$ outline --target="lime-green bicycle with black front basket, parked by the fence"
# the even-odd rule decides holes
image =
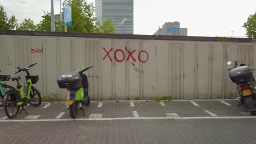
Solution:
[[[20,76],[11,78],[12,81],[16,81],[18,83],[18,90],[15,88],[10,89],[7,94],[4,95],[3,106],[5,114],[8,118],[15,118],[19,113],[20,107],[22,108],[20,113],[22,111],[25,111],[25,113],[27,114],[27,111],[24,109],[27,104],[30,104],[32,106],[39,106],[41,104],[41,94],[37,88],[33,87],[33,84],[37,83],[39,80],[38,75],[31,76],[30,72],[28,71],[36,64],[37,63],[31,64],[28,66],[28,68],[17,68],[18,71],[15,74],[18,74],[21,71],[25,71],[27,74],[27,81],[25,82],[24,87],[22,87],[19,83],[19,80],[21,79]]]

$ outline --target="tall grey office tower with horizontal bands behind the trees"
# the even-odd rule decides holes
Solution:
[[[96,0],[95,13],[101,23],[113,19],[115,33],[133,34],[134,0]]]

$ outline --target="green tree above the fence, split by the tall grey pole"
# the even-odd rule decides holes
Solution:
[[[40,21],[37,24],[37,31],[51,31],[51,13],[48,13],[48,11],[44,11],[44,15],[42,16],[43,20]],[[62,29],[62,22],[61,21],[55,21],[55,31],[61,32]]]

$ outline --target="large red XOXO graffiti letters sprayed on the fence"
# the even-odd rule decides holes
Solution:
[[[109,51],[107,51],[107,50],[105,49],[105,47],[103,47],[103,50],[107,53],[106,56],[103,58],[103,61],[104,61],[105,58],[108,56],[109,60],[112,62],[113,60],[112,60],[112,58],[110,57],[109,53],[113,50],[113,48],[111,48]],[[135,59],[135,58],[133,57],[133,55],[132,55],[136,50],[133,50],[133,51],[130,52],[130,51],[127,49],[127,47],[125,47],[125,50],[128,52],[128,56],[127,56],[127,58],[126,58],[126,61],[129,61],[129,59],[130,59],[130,57],[131,57],[131,58],[132,58],[132,61],[133,61],[133,62],[136,62],[136,59]],[[117,58],[117,53],[118,53],[118,52],[121,52],[121,54],[123,55],[123,58],[121,58],[121,59],[118,59],[118,58]],[[146,58],[146,60],[144,60],[144,61],[141,59],[142,53],[145,53],[145,54],[147,55],[147,58]],[[147,51],[142,50],[142,51],[140,51],[140,52],[138,53],[138,61],[139,61],[139,62],[146,63],[146,62],[148,61],[148,58],[149,58],[149,55],[148,55],[148,52],[147,52]],[[123,61],[125,60],[125,52],[124,52],[123,50],[121,50],[121,49],[115,50],[115,51],[114,51],[114,59],[115,59],[115,61],[117,61],[117,62],[119,62],[119,63],[123,62]]]

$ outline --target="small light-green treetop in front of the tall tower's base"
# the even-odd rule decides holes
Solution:
[[[96,23],[98,28],[96,29],[95,33],[115,33],[115,27],[113,25],[113,19],[108,19],[104,21],[101,25],[100,21]]]

